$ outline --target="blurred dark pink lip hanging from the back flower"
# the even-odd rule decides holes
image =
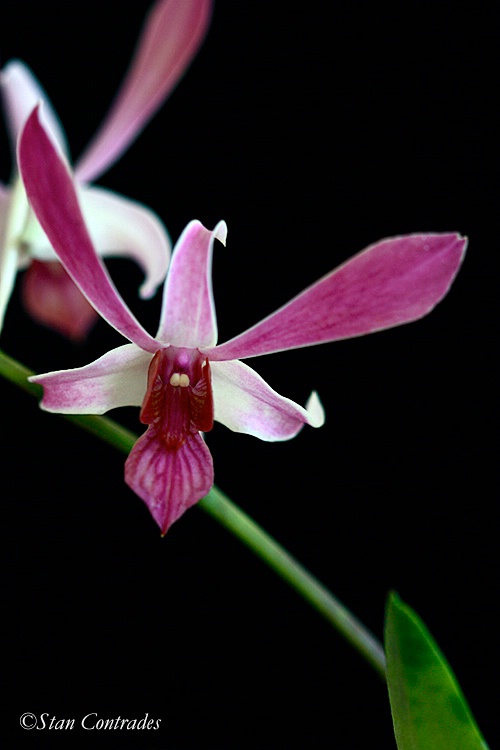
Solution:
[[[58,261],[32,262],[24,274],[22,298],[37,323],[73,341],[83,341],[98,318]]]

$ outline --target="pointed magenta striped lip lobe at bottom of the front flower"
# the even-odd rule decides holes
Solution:
[[[168,449],[149,427],[125,463],[125,481],[148,506],[162,534],[205,497],[214,481],[212,456],[193,433],[177,450]]]

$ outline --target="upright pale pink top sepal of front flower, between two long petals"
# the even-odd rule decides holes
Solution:
[[[156,338],[187,348],[213,346],[217,323],[212,293],[214,240],[226,244],[227,226],[213,231],[191,221],[178,239],[163,290],[163,306]]]

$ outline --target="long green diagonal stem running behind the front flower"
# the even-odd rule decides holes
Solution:
[[[16,360],[0,351],[0,375],[15,383],[33,396],[40,397],[42,388],[29,383],[33,373]],[[61,415],[101,440],[129,453],[137,435],[113,420],[100,416]],[[198,505],[220,524],[237,536],[258,557],[266,562],[309,604],[311,604],[385,679],[385,656],[381,643],[375,636],[318,581],[298,560],[273,539],[264,529],[246,515],[237,505],[213,487]]]

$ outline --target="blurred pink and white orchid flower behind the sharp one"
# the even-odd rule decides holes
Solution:
[[[206,33],[212,0],[160,0],[150,11],[120,91],[100,130],[75,165],[85,221],[100,255],[128,256],[142,268],[140,294],[151,297],[165,278],[170,239],[145,206],[89,186],[120,158],[170,94]],[[50,102],[29,68],[13,60],[0,72],[13,147],[30,112],[43,101],[46,126],[67,154],[66,139]],[[16,273],[24,275],[23,300],[39,322],[69,338],[86,336],[97,313],[67,276],[51,243],[29,210],[17,173],[0,184],[0,329]]]

